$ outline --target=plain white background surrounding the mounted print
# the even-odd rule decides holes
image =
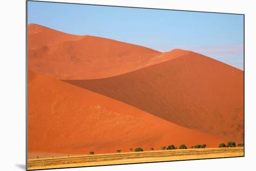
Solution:
[[[65,171],[254,170],[256,161],[256,5],[253,5],[253,0],[59,1],[245,14],[246,147],[244,158],[126,164],[73,168]],[[25,14],[25,0],[0,2],[0,170],[5,171],[25,170]]]

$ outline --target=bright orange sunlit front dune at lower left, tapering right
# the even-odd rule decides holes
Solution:
[[[95,92],[28,72],[29,155],[112,153],[170,144],[216,147],[222,142]]]

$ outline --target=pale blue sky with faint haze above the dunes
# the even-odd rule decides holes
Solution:
[[[191,50],[243,70],[243,15],[28,2],[28,24],[161,52]]]

